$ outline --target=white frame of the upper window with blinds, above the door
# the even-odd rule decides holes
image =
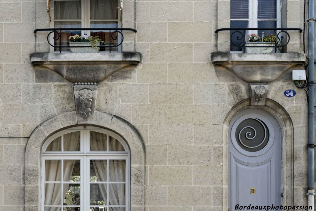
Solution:
[[[281,27],[281,0],[276,0],[276,19],[258,19],[258,0],[249,0],[248,19],[230,19],[231,21],[248,21],[249,28],[258,28],[259,21],[276,21],[276,27]],[[249,30],[249,34],[258,34],[257,30]],[[245,35],[246,36],[246,35]],[[261,37],[261,34],[258,34]]]

